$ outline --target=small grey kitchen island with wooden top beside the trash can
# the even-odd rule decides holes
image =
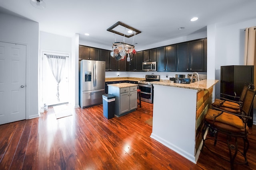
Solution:
[[[116,96],[116,117],[130,113],[137,108],[137,84],[108,84],[108,94]]]

